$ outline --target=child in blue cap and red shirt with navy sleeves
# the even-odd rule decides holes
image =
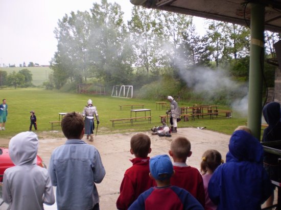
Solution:
[[[157,187],[140,194],[129,210],[155,209],[197,209],[203,206],[186,190],[171,186],[170,178],[175,173],[171,159],[167,154],[156,155],[149,162],[149,176],[155,179]]]

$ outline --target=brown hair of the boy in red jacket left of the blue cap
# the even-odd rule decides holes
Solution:
[[[150,149],[150,138],[145,134],[136,134],[131,138],[131,149],[138,158],[147,158]]]

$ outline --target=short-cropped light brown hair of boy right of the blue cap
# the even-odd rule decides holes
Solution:
[[[191,143],[185,137],[178,137],[171,142],[171,151],[176,158],[185,159],[191,150]]]

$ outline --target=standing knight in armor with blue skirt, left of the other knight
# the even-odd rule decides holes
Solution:
[[[99,115],[97,108],[92,106],[92,100],[89,99],[87,101],[87,106],[84,107],[83,117],[85,117],[85,134],[87,135],[87,139],[89,141],[93,141],[93,130],[95,129],[94,115],[97,119],[97,124],[100,124]]]

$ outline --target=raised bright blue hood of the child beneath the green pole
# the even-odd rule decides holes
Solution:
[[[229,152],[226,155],[226,162],[249,161],[262,163],[264,149],[262,144],[245,130],[237,130],[229,140]]]

